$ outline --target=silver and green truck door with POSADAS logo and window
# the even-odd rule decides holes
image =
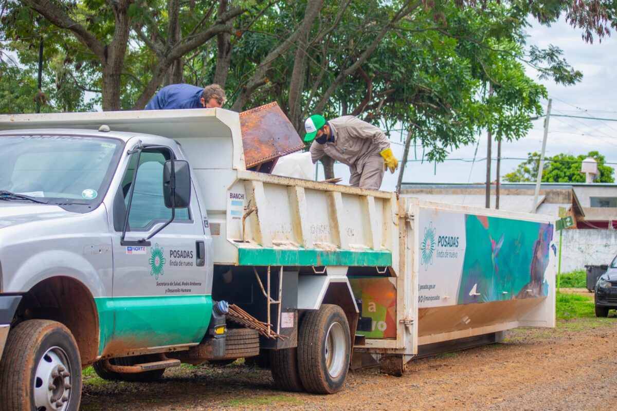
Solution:
[[[146,146],[147,147],[147,146]],[[160,145],[158,146],[160,147]],[[172,216],[163,198],[163,168],[171,149],[144,149],[136,165],[130,161],[114,200],[113,333],[101,341],[106,352],[197,343],[210,320],[212,297],[207,284],[210,261],[198,255],[205,237],[196,192],[189,208],[176,209],[175,219],[146,242]],[[124,216],[137,169],[125,241]],[[205,242],[205,244],[204,244]],[[102,340],[106,339],[101,333]]]

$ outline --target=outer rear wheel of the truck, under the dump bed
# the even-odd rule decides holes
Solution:
[[[304,389],[315,394],[339,391],[349,369],[351,338],[342,308],[322,304],[304,315],[298,336],[298,369]]]

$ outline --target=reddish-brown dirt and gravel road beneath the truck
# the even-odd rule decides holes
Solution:
[[[403,377],[350,372],[331,396],[285,393],[244,364],[180,367],[157,383],[85,379],[82,410],[615,410],[617,318],[518,328],[502,343],[412,362]]]

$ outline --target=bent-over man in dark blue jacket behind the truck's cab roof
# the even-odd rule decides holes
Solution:
[[[174,108],[215,108],[225,102],[225,91],[218,84],[204,88],[191,84],[170,84],[152,97],[146,110],[172,110]]]

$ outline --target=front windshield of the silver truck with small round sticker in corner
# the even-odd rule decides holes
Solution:
[[[100,137],[0,137],[0,190],[49,203],[99,203],[121,147]]]

